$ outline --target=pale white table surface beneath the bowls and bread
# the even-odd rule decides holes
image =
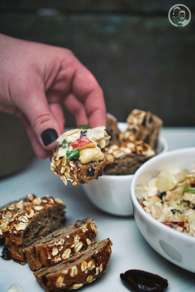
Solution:
[[[163,128],[161,135],[168,141],[169,150],[195,146],[195,127]],[[63,182],[50,170],[49,159],[36,157],[29,166],[10,177],[0,180],[0,205],[29,193],[38,196],[50,194],[65,202],[67,223],[92,217],[99,231],[97,239],[109,237],[113,241],[111,261],[106,273],[79,291],[125,292],[120,273],[140,269],[168,279],[167,292],[194,292],[195,274],[183,270],[160,256],[142,237],[133,217],[108,215],[95,208],[85,196],[82,186]],[[0,241],[0,253],[3,241]],[[195,252],[195,246],[194,246]],[[195,263],[194,263],[195,265]],[[28,265],[0,258],[0,291],[19,284],[24,292],[43,292]]]

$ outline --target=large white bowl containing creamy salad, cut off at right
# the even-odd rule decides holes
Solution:
[[[195,238],[167,227],[147,214],[137,196],[140,188],[163,169],[191,170],[195,167],[195,147],[183,148],[160,154],[146,161],[134,174],[131,198],[134,218],[146,241],[161,256],[191,272],[195,272]],[[139,193],[137,191],[139,189]],[[140,198],[139,198],[140,199]]]

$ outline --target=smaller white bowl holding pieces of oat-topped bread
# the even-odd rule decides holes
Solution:
[[[118,123],[121,131],[125,131],[126,123]],[[159,138],[157,153],[168,150],[163,137]],[[130,197],[130,186],[134,175],[104,175],[82,185],[88,199],[101,211],[117,216],[133,215]]]

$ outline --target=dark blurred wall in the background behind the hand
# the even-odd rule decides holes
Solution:
[[[195,2],[181,2],[191,21],[177,29],[168,20],[175,1],[1,0],[0,31],[72,50],[118,121],[138,108],[164,126],[195,126]],[[66,110],[65,116],[74,126]]]

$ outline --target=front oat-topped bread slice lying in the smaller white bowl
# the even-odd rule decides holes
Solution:
[[[126,140],[119,145],[106,147],[106,166],[103,170],[107,175],[134,174],[146,160],[155,155],[154,150],[143,141]]]

